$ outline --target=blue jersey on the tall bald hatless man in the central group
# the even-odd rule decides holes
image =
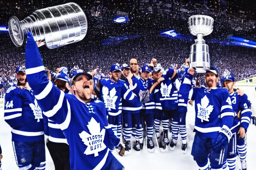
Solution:
[[[134,98],[132,100],[129,100],[128,98],[122,99],[123,113],[140,113],[140,110],[142,109],[142,103],[140,102],[139,92],[140,90],[144,90],[144,88],[142,87],[142,82],[135,76],[132,76],[133,87],[130,87],[127,78],[124,78],[124,81],[126,86],[129,87],[130,90],[132,90]]]

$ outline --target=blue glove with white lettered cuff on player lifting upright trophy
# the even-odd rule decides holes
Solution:
[[[216,139],[215,144],[213,145],[213,148],[215,150],[224,149],[228,145],[231,137],[232,137],[231,130],[226,125],[223,125],[223,127],[219,131],[219,135]]]

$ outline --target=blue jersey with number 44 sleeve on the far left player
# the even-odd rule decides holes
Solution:
[[[6,91],[4,119],[12,128],[12,141],[44,140],[42,110],[32,90],[10,87]]]

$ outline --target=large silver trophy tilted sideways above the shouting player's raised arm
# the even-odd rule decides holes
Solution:
[[[83,40],[87,28],[87,18],[76,3],[36,10],[22,21],[15,16],[9,19],[9,34],[16,46],[21,46],[31,31],[35,41],[57,48]]]

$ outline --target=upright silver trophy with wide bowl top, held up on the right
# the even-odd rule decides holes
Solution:
[[[203,37],[212,33],[213,21],[206,15],[193,15],[188,19],[190,33],[197,36],[195,44],[190,47],[190,67],[196,68],[198,73],[205,73],[211,66],[209,47]]]

